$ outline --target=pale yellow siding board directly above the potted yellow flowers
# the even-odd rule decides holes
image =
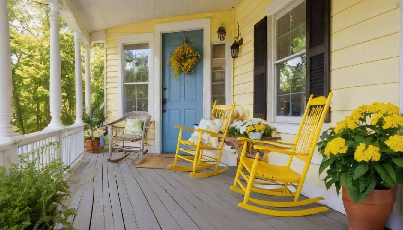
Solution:
[[[398,92],[399,83],[333,90],[332,110],[353,110],[362,104],[371,104],[372,102],[399,104]]]

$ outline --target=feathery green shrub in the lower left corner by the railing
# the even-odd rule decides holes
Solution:
[[[75,229],[67,221],[75,209],[64,205],[70,194],[63,174],[72,173],[70,166],[60,159],[40,165],[39,157],[30,161],[21,155],[8,170],[0,167],[0,229],[53,229],[58,224]]]

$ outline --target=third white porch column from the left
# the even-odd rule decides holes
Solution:
[[[83,77],[81,75],[81,39],[80,32],[74,32],[75,75],[76,75],[76,121],[83,124]]]

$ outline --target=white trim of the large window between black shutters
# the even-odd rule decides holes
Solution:
[[[289,133],[289,134],[297,134],[299,124],[301,122],[302,116],[289,116],[282,117],[276,116],[276,75],[274,64],[278,63],[282,60],[276,60],[276,47],[275,47],[275,34],[276,34],[276,19],[287,13],[289,10],[295,8],[299,4],[301,4],[304,0],[274,0],[266,7],[266,13],[268,16],[267,23],[267,47],[268,47],[268,94],[267,94],[267,120],[271,126],[276,128],[276,132],[279,133]],[[306,52],[306,50],[301,51]],[[298,52],[297,54],[301,54]],[[297,54],[293,54],[291,56],[297,56]],[[284,58],[283,60],[290,59],[291,56]]]

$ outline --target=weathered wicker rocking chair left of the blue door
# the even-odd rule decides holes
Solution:
[[[151,125],[151,115],[148,114],[147,112],[143,111],[133,111],[127,113],[125,116],[122,118],[119,118],[118,120],[115,120],[114,122],[107,124],[108,126],[108,134],[109,134],[109,157],[108,157],[108,162],[119,162],[126,157],[130,155],[130,153],[136,153],[137,159],[135,162],[139,162],[141,159],[143,159],[143,155],[146,153],[144,151],[144,139],[147,137],[147,131],[148,128],[150,128]],[[117,124],[126,120],[126,118],[129,119],[142,119],[143,124],[141,125],[141,136],[136,136],[136,135],[123,135],[125,131],[124,126],[118,126]],[[139,142],[139,146],[125,146],[125,142]],[[115,143],[114,143],[115,142]],[[112,159],[112,153],[113,152],[123,152],[124,155],[123,157],[117,158],[117,159]],[[134,163],[134,162],[133,162]]]

